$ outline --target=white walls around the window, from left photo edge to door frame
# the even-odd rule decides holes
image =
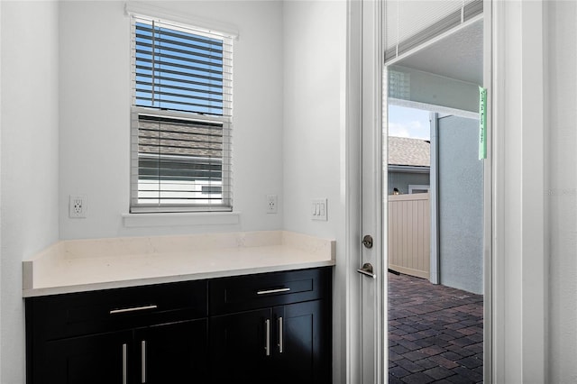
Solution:
[[[148,5],[240,33],[234,53],[240,223],[124,227],[131,86],[124,2],[1,2],[3,384],[24,378],[22,261],[59,239],[287,229],[344,243],[346,2]],[[265,213],[267,194],[279,196],[278,215]],[[69,195],[87,196],[86,219],[69,219]],[[328,198],[328,222],[310,220],[316,197]],[[344,368],[342,246],[337,259],[334,382]]]

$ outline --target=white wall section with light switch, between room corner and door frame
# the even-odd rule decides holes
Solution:
[[[347,5],[284,5],[284,228],[336,239],[334,383],[344,379],[344,96]],[[311,200],[327,198],[328,221],[311,220]]]

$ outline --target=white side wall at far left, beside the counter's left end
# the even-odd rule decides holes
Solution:
[[[0,382],[22,384],[22,261],[59,239],[58,5],[1,2],[0,7]]]

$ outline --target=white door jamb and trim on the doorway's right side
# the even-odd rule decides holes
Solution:
[[[485,338],[493,382],[545,382],[548,373],[546,3],[484,0],[491,10],[493,144],[492,328]]]

